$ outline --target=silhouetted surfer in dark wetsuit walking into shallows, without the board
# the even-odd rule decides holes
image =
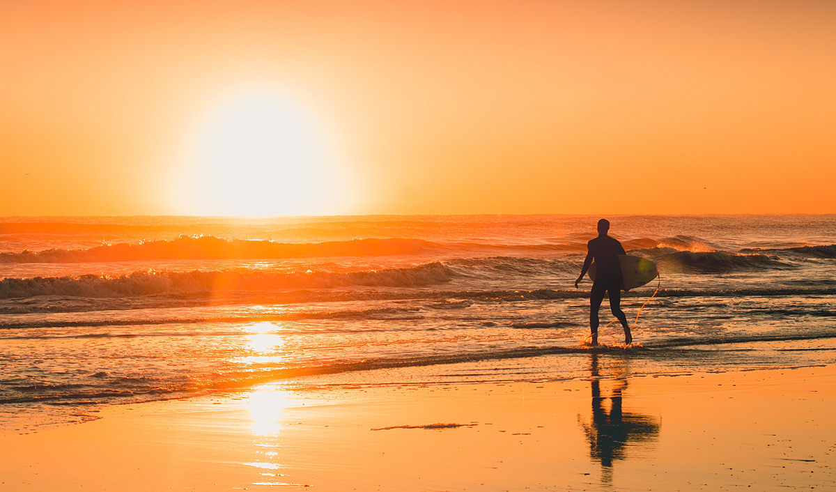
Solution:
[[[592,345],[598,345],[598,310],[601,307],[601,301],[604,300],[604,293],[609,293],[609,309],[624,326],[624,344],[630,345],[633,342],[633,336],[630,334],[627,316],[621,310],[621,266],[618,256],[626,253],[618,239],[610,238],[607,231],[609,231],[609,220],[602,218],[598,221],[598,237],[587,243],[589,253],[584,259],[584,268],[581,269],[580,276],[575,280],[575,289],[584,279],[584,274],[589,270],[589,265],[594,259],[595,279],[589,296],[589,327],[592,329]]]

